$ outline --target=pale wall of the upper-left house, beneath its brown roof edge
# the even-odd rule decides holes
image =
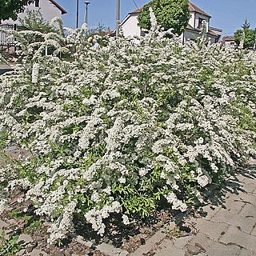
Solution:
[[[41,8],[42,17],[48,22],[54,17],[62,18],[62,11],[49,0],[39,0],[39,7]],[[34,3],[26,6],[24,13],[18,14],[18,18],[24,18],[26,16],[26,10],[38,10],[38,7],[35,7]],[[18,24],[18,20],[9,19],[3,21],[2,24]]]

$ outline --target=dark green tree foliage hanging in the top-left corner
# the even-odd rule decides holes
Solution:
[[[0,0],[0,22],[12,18],[16,20],[18,14],[25,10],[25,6],[34,2],[34,0]]]

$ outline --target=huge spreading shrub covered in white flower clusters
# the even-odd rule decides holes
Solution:
[[[104,234],[110,214],[129,224],[163,201],[185,211],[255,154],[254,52],[156,28],[101,48],[69,32],[20,32],[23,64],[0,77],[0,130],[30,151],[1,167],[2,189],[26,191],[52,222],[49,242],[74,216]]]

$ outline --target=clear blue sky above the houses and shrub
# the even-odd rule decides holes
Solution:
[[[63,15],[65,26],[73,27],[76,24],[76,0],[56,0],[63,6],[68,14]],[[85,4],[80,2],[80,25],[84,19]],[[130,11],[137,9],[134,5],[143,6],[149,0],[121,0],[121,18],[125,18]],[[222,35],[234,34],[240,28],[245,18],[252,28],[256,26],[256,0],[191,0],[206,13],[212,16],[210,26],[223,30]],[[95,27],[98,22],[114,29],[116,15],[116,0],[90,0],[88,11],[88,23]]]

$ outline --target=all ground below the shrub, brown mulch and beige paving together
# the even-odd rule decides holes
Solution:
[[[19,154],[13,150],[13,154]],[[16,194],[10,204],[18,210],[30,202],[18,203],[24,194]],[[158,216],[152,226],[131,226],[122,230],[122,238],[111,230],[108,239],[85,241],[85,236],[74,237],[68,246],[58,248],[46,243],[47,222],[27,219],[15,211],[6,209],[0,220],[0,231],[6,230],[8,237],[22,227],[18,243],[22,250],[17,255],[26,256],[249,256],[256,255],[256,161],[242,167],[237,175],[226,179],[222,186],[210,186],[206,190],[205,206],[190,213],[177,214],[170,219],[168,213]],[[160,220],[160,222],[159,222]],[[39,227],[39,228],[38,228]],[[133,232],[134,231],[134,232]],[[136,231],[136,232],[135,232]],[[120,234],[121,234],[120,233]],[[118,242],[117,242],[118,241]]]

